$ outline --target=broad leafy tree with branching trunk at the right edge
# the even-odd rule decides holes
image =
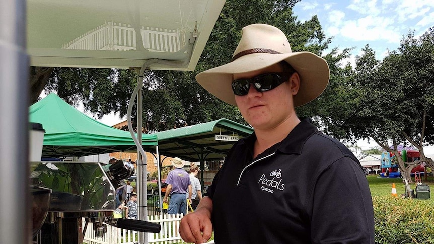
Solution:
[[[430,29],[419,39],[410,32],[397,51],[382,62],[367,45],[356,57],[353,75],[346,87],[328,104],[326,111],[340,109],[322,117],[328,131],[339,139],[374,139],[384,150],[398,155],[399,144],[413,144],[421,160],[404,164],[397,157],[402,175],[411,182],[411,169],[420,161],[431,167],[432,160],[423,153],[423,145],[432,144],[434,41]],[[339,101],[349,99],[341,107]]]

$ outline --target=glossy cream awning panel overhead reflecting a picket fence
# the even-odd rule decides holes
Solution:
[[[224,3],[28,0],[30,65],[194,70]]]

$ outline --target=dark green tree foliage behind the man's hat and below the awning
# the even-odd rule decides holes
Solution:
[[[321,55],[328,48],[331,38],[325,36],[316,16],[305,22],[297,21],[292,8],[299,1],[226,1],[194,71],[152,70],[146,74],[142,92],[145,131],[162,131],[220,118],[246,124],[236,107],[216,99],[194,77],[201,71],[228,63],[241,37],[241,29],[253,23],[266,23],[280,28],[287,34],[293,51],[311,51]],[[335,62],[338,59],[330,56],[328,61]],[[335,63],[330,65],[337,66]],[[85,110],[99,118],[112,111],[119,112],[120,117],[126,114],[130,95],[136,85],[134,70],[50,69],[51,73],[50,70],[46,71],[50,74],[47,84],[39,88],[57,92],[75,106],[81,101]],[[33,78],[31,82],[37,82],[37,79]],[[34,90],[33,94],[39,95],[41,91]],[[312,113],[309,111],[306,114]],[[135,124],[135,117],[132,121]]]

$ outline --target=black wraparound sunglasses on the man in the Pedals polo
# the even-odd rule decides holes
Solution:
[[[250,79],[236,79],[232,82],[232,90],[235,95],[247,95],[251,83],[258,92],[269,91],[288,80],[292,74],[293,73],[266,73]]]

